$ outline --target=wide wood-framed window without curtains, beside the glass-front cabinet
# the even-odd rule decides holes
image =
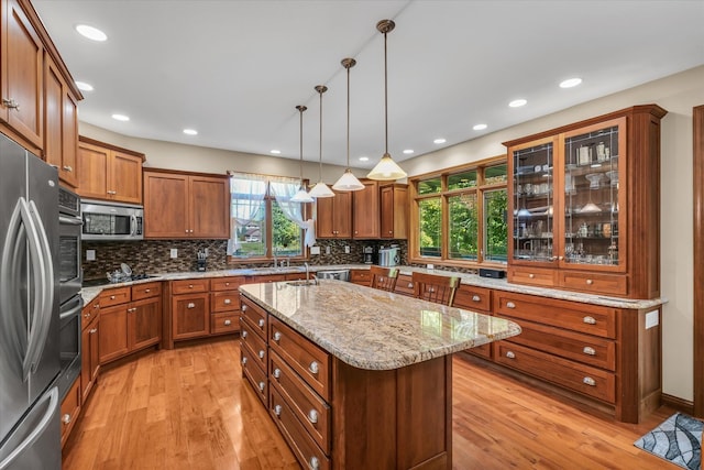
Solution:
[[[506,263],[506,157],[414,178],[411,261]]]

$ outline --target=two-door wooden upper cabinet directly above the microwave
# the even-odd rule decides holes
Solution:
[[[78,187],[88,199],[142,204],[144,154],[80,136]]]

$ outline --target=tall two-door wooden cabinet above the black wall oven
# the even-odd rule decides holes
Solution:
[[[78,185],[78,100],[48,53],[44,54],[44,160],[66,185]]]

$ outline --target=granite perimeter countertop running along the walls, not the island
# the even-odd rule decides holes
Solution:
[[[369,264],[333,264],[333,265],[316,265],[310,266],[310,272],[316,273],[318,271],[330,270],[369,270]],[[547,287],[532,287],[520,284],[510,284],[505,278],[497,280],[491,277],[481,277],[476,274],[455,273],[451,271],[442,270],[427,270],[416,266],[398,266],[400,274],[410,275],[414,271],[432,273],[439,275],[458,276],[462,284],[474,285],[479,287],[494,288],[506,292],[514,292],[518,294],[531,294],[541,297],[558,298],[563,300],[581,302],[591,305],[602,305],[613,308],[653,308],[668,302],[667,298],[651,298],[651,299],[630,299],[620,297],[608,297],[594,294],[582,294],[579,292],[560,291],[557,288]],[[293,274],[306,272],[305,266],[290,266],[290,267],[256,267],[256,269],[240,269],[240,270],[220,270],[220,271],[206,271],[206,272],[184,272],[184,273],[164,273],[154,277],[140,281],[131,281],[127,283],[106,284],[98,287],[86,287],[81,289],[84,302],[88,304],[95,297],[97,297],[103,288],[121,287],[125,285],[140,284],[153,281],[177,281],[187,278],[202,278],[202,277],[227,277],[227,276],[254,276],[254,275],[267,275],[267,274]]]

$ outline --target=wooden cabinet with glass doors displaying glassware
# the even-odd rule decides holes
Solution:
[[[660,295],[660,119],[634,107],[507,142],[508,280]]]

